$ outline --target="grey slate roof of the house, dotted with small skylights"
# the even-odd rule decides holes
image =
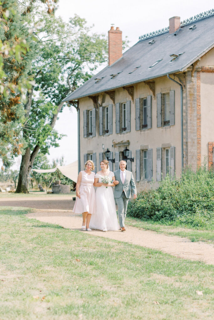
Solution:
[[[190,30],[193,25],[196,28]],[[149,44],[152,39],[154,43]],[[119,60],[90,78],[63,101],[76,100],[184,71],[212,47],[214,47],[214,14],[181,27],[176,36],[174,33],[165,32],[139,41],[124,52]],[[171,61],[173,59],[171,54],[181,55]],[[160,61],[150,68],[158,60]],[[96,83],[96,78],[101,80]]]

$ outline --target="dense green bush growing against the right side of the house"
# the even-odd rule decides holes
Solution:
[[[158,189],[138,194],[128,204],[127,215],[194,228],[211,227],[214,218],[214,174],[201,167],[187,168],[181,177],[163,179]]]

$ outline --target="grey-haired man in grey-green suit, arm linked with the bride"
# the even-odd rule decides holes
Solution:
[[[134,194],[134,199],[137,198],[137,189],[134,182],[134,177],[131,171],[127,171],[126,161],[119,162],[120,170],[114,171],[115,174],[115,201],[118,207],[118,218],[121,231],[125,231],[124,220],[126,217],[127,205],[131,198],[131,190]]]

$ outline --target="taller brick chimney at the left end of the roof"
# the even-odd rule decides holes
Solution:
[[[111,66],[122,55],[122,31],[112,26],[108,31],[108,65]]]

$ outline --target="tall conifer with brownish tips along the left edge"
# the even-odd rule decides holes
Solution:
[[[25,121],[22,101],[30,93],[33,78],[28,74],[35,58],[36,43],[26,16],[33,4],[53,14],[58,0],[2,0],[0,3],[0,158],[8,167],[23,152]]]

